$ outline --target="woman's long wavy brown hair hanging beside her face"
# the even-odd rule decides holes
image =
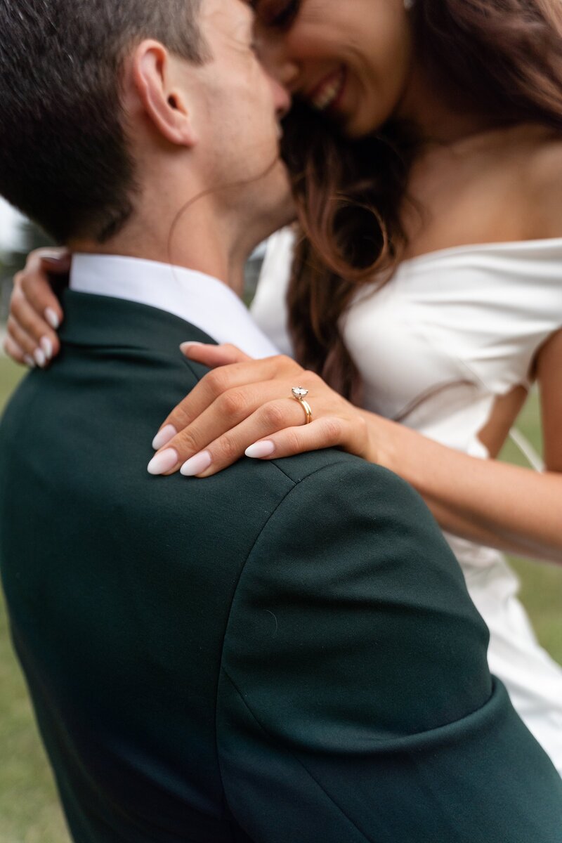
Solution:
[[[562,132],[562,0],[416,0],[417,59],[436,89],[497,126],[533,122]],[[404,253],[401,221],[420,139],[389,123],[346,141],[295,105],[284,155],[299,232],[289,288],[297,359],[361,403],[361,378],[341,333],[361,285],[384,283]]]

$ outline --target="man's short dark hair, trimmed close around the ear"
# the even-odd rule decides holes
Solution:
[[[0,0],[0,194],[61,243],[130,217],[121,71],[145,38],[206,60],[201,0]]]

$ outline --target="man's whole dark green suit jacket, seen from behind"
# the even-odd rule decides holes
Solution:
[[[147,475],[209,341],[67,293],[0,433],[13,642],[78,843],[560,843],[424,504],[338,451]]]

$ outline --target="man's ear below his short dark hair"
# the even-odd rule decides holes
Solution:
[[[192,115],[183,90],[174,78],[174,59],[158,41],[142,41],[135,51],[132,77],[147,117],[170,143],[193,147]]]

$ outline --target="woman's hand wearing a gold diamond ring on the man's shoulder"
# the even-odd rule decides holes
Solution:
[[[244,454],[280,459],[333,447],[371,459],[362,412],[290,357],[253,360],[234,346],[196,343],[182,351],[211,372],[163,421],[150,474],[210,477]],[[295,387],[308,390],[310,423]]]

